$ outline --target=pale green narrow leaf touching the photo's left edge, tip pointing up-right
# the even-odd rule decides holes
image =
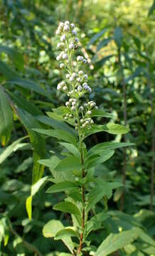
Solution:
[[[20,139],[17,139],[15,142],[13,142],[11,145],[7,146],[4,151],[0,154],[0,164],[6,160],[8,156],[10,156],[13,152],[15,152],[18,149],[22,149],[24,146],[27,145],[27,143],[20,143],[23,139],[28,138],[22,137]]]

